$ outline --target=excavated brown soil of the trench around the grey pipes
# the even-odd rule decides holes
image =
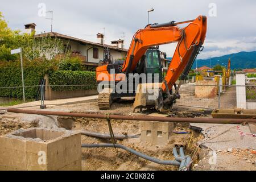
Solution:
[[[106,119],[91,118],[63,118],[59,117],[61,127],[71,130],[87,130],[98,133],[109,133]],[[72,122],[72,124],[71,124]],[[141,134],[138,121],[112,120],[115,134]],[[155,146],[148,142],[141,142],[140,138],[117,140],[117,143],[133,148],[143,154],[162,160],[174,160],[172,148],[175,144],[185,146],[185,154],[191,155],[197,147],[197,141],[202,135],[189,130],[189,123],[175,123],[174,130],[188,131],[188,134],[172,133],[168,143],[164,146]],[[192,137],[193,135],[193,137]],[[112,143],[111,139],[100,139],[82,135],[82,143]],[[193,161],[197,163],[199,155]],[[82,148],[82,170],[177,170],[177,166],[160,165],[149,162],[119,148]]]

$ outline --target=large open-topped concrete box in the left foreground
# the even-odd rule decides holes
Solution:
[[[81,135],[30,128],[0,136],[0,170],[81,170]]]

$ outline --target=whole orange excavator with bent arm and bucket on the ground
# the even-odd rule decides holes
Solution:
[[[188,25],[184,28],[178,27],[179,24],[184,23],[188,23]],[[127,52],[126,60],[123,65],[110,64],[108,59],[104,59],[105,61],[102,62],[103,64],[96,69],[97,82],[114,81],[115,84],[118,84],[120,81],[125,81],[128,83],[126,85],[129,86],[130,80],[128,74],[142,71],[145,67],[143,63],[148,48],[176,42],[177,47],[163,83],[157,82],[158,84],[155,84],[146,82],[147,87],[150,87],[150,85],[158,85],[152,86],[158,93],[158,98],[149,99],[147,92],[141,92],[143,90],[142,87],[145,85],[144,83],[141,83],[138,86],[133,83],[134,85],[132,85],[132,88],[133,86],[137,86],[136,92],[131,90],[131,93],[122,94],[113,92],[113,89],[108,86],[105,88],[104,86],[104,90],[102,90],[98,95],[99,108],[109,109],[113,98],[129,97],[134,96],[135,94],[134,110],[136,108],[152,106],[159,111],[170,109],[172,104],[175,103],[176,98],[180,97],[178,93],[180,84],[176,86],[175,81],[180,75],[181,78],[187,76],[192,67],[193,61],[201,50],[201,45],[204,43],[206,31],[207,17],[201,15],[194,20],[188,20],[185,22],[172,21],[163,24],[149,24],[144,29],[138,30],[133,36],[133,40],[131,41],[129,51]],[[141,65],[137,67],[140,60]],[[113,69],[118,71],[118,73],[111,73],[110,71]],[[101,73],[104,73],[102,74],[104,77],[101,76]],[[175,88],[175,92],[172,91],[173,86]]]

